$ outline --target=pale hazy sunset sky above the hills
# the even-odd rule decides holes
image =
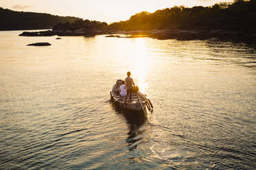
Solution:
[[[141,11],[154,12],[173,5],[208,6],[224,1],[232,0],[0,0],[0,7],[111,23],[125,21]]]

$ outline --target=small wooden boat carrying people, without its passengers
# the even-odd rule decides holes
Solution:
[[[116,84],[114,84],[110,92],[111,101],[118,104],[118,106],[121,106],[125,110],[143,110],[145,112],[146,107],[149,111],[153,110],[153,105],[151,104],[151,101],[147,98],[147,95],[143,95],[142,93],[140,93],[140,91],[138,91],[137,93],[133,93],[131,101],[129,97],[127,97],[126,99],[126,96],[120,96],[120,85],[122,85],[122,80],[117,80]]]

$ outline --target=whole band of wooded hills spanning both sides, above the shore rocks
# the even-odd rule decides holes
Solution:
[[[97,34],[117,31],[150,31],[153,29],[204,29],[256,32],[256,0],[235,0],[209,7],[174,6],[156,12],[140,12],[127,21],[107,25],[105,22],[76,17],[54,16],[35,12],[15,12],[0,8],[0,30],[53,29],[56,32]],[[79,34],[78,34],[79,35]]]

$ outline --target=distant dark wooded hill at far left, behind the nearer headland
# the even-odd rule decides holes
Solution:
[[[0,8],[0,30],[52,29],[56,23],[74,23],[80,18]]]

